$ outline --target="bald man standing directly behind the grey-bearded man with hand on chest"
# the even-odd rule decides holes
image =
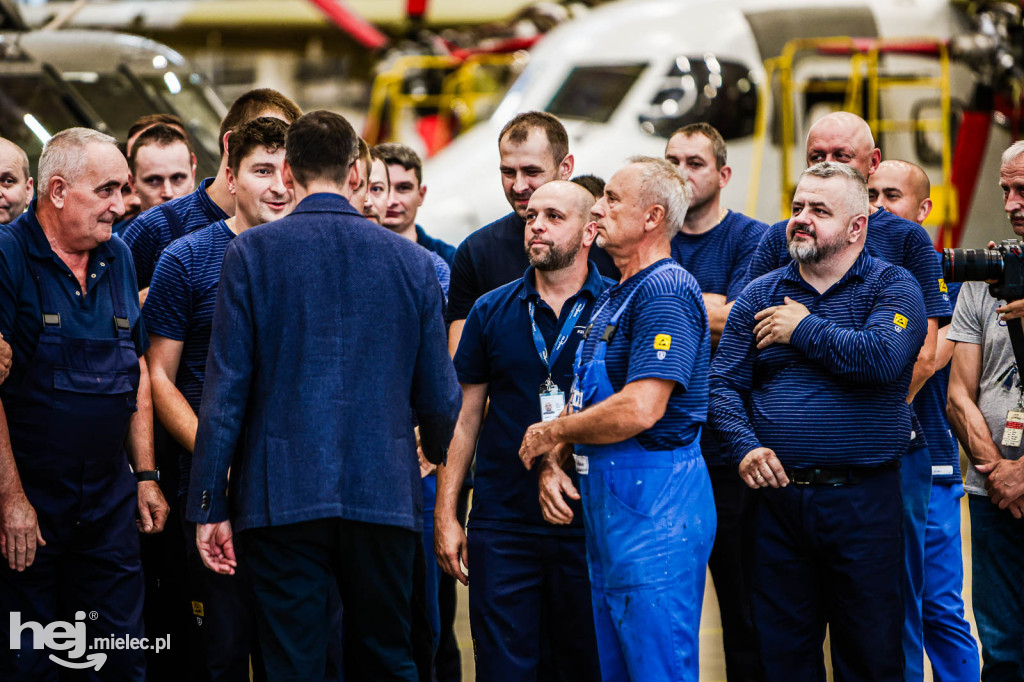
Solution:
[[[867,123],[855,114],[835,112],[821,117],[807,133],[807,165],[825,161],[852,166],[869,179],[879,170],[882,152]],[[790,263],[785,244],[786,221],[768,228],[758,245],[746,272],[748,282]],[[936,340],[939,319],[952,314],[942,268],[935,258],[932,240],[925,229],[910,220],[877,209],[867,217],[865,250],[874,258],[899,265],[914,276],[921,286],[928,315],[928,334],[913,368],[907,402],[913,400],[925,382],[935,373]],[[901,481],[906,540],[907,589],[903,650],[906,680],[924,679],[922,594],[925,573],[925,525],[932,489],[932,460],[928,452],[927,431],[911,414],[910,447],[901,458]]]

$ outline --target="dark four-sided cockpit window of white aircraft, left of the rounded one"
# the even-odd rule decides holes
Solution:
[[[607,123],[645,68],[643,63],[577,67],[551,98],[548,112],[559,118]]]

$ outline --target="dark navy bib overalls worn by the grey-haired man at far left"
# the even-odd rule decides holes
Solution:
[[[4,410],[22,485],[47,544],[22,573],[4,561],[0,610],[20,611],[23,623],[44,626],[74,622],[76,611],[85,611],[89,644],[93,637],[138,638],[143,586],[137,489],[124,440],[135,411],[139,364],[124,292],[111,279],[111,336],[73,338],[61,327],[52,292],[41,284],[43,267],[31,255],[28,264],[43,327]],[[92,295],[99,295],[100,286],[94,283]],[[2,636],[8,641],[9,633]],[[105,664],[86,671],[86,679],[144,679],[142,650],[103,652]],[[23,631],[20,650],[0,658],[0,679],[55,680],[63,669],[47,658],[51,653],[71,659],[67,651],[34,649],[31,631]]]

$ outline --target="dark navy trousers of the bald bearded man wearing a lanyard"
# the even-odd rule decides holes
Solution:
[[[583,538],[469,531],[476,679],[598,680]]]

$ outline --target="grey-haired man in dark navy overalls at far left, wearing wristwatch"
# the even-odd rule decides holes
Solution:
[[[0,332],[15,358],[0,388],[0,638],[15,643],[0,679],[55,680],[59,658],[90,679],[141,680],[136,524],[161,530],[168,507],[135,272],[111,241],[128,167],[113,138],[72,128],[47,142],[39,180],[38,202],[0,235]],[[67,638],[42,632],[54,622]],[[128,644],[85,656],[95,637]]]

